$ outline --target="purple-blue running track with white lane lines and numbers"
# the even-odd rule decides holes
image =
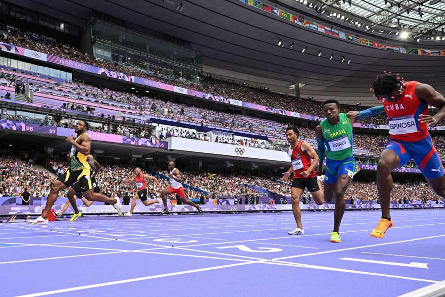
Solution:
[[[83,217],[0,224],[0,296],[393,297],[445,280],[445,209]],[[79,235],[80,234],[80,235]]]

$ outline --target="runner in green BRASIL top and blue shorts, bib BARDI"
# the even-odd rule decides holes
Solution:
[[[379,114],[384,110],[380,105],[360,112],[340,113],[340,104],[334,99],[324,101],[323,108],[326,119],[315,127],[319,158],[317,175],[323,174],[323,161],[327,148],[324,198],[328,203],[335,198],[334,230],[331,234],[331,242],[340,243],[338,231],[346,207],[345,193],[356,170],[353,154],[353,125],[356,119]]]

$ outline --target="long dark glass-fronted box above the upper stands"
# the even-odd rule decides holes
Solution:
[[[199,83],[201,53],[96,19],[91,24],[94,57],[167,80]]]

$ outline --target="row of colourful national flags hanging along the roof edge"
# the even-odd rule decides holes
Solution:
[[[445,56],[445,50],[439,49],[411,49],[411,48],[403,48],[398,46],[392,46],[389,44],[383,44],[381,42],[360,38],[356,35],[352,35],[349,33],[345,33],[342,31],[338,31],[332,27],[324,26],[322,24],[318,24],[316,22],[305,19],[305,17],[293,15],[287,11],[279,9],[275,6],[268,5],[262,1],[257,0],[240,0],[243,3],[246,3],[250,6],[254,6],[258,9],[262,9],[270,14],[273,14],[277,17],[295,23],[297,25],[306,27],[310,30],[314,30],[320,33],[324,33],[333,37],[337,37],[340,39],[347,40],[352,43],[356,43],[362,46],[375,48],[375,49],[383,49],[407,54],[417,54],[417,55],[430,55],[430,56]]]

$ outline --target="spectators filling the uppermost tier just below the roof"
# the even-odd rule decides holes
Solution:
[[[262,88],[254,88],[241,84],[235,84],[222,79],[216,79],[211,76],[204,78],[200,84],[196,84],[191,81],[184,81],[182,79],[166,80],[164,77],[141,72],[140,69],[135,70],[126,65],[120,65],[115,62],[108,62],[102,59],[93,58],[87,53],[82,53],[79,49],[75,49],[72,46],[64,45],[62,43],[57,44],[49,39],[37,38],[36,36],[38,35],[35,33],[19,33],[9,30],[9,32],[4,32],[0,35],[0,41],[27,49],[45,52],[47,54],[59,56],[62,58],[79,61],[85,64],[91,64],[97,67],[122,72],[127,75],[139,76],[163,83],[170,83],[178,87],[197,90],[216,96],[223,96],[230,99],[239,99],[256,104],[273,106],[274,108],[278,109],[324,117],[321,102],[319,101],[309,99],[302,99],[301,101],[299,101],[288,95],[269,92],[268,90]],[[357,108],[363,109],[365,107],[357,107],[353,105],[342,106],[344,112],[347,112],[349,110],[356,110]],[[430,110],[430,112],[435,113],[436,111]],[[385,115],[381,114],[373,118],[358,120],[357,122],[365,124],[387,125],[387,118]],[[443,123],[440,123],[440,125],[442,124]]]

